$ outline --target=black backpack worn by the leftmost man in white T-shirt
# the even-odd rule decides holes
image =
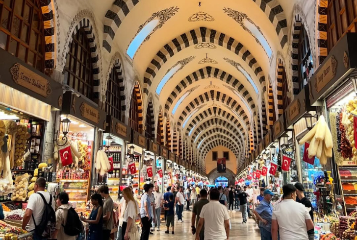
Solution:
[[[56,214],[51,207],[52,195],[50,194],[50,203],[47,203],[44,195],[39,192],[36,193],[39,194],[45,202],[45,210],[42,214],[41,222],[38,225],[36,225],[35,218],[32,214],[33,223],[35,224],[35,233],[44,238],[51,238],[52,233],[56,229]]]

